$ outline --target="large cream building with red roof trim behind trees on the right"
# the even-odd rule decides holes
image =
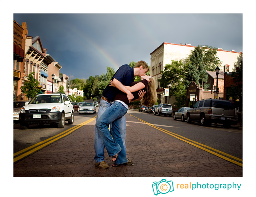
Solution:
[[[192,46],[191,44],[183,45],[183,44],[173,44],[173,43],[162,43],[150,54],[151,55],[150,75],[153,76],[156,81],[157,96],[160,102],[170,103],[170,104],[173,104],[175,102],[175,97],[171,97],[171,98],[168,97],[167,99],[164,98],[164,88],[166,87],[160,87],[160,82],[158,81],[158,79],[161,79],[162,77],[161,71],[164,70],[164,66],[166,64],[171,64],[172,60],[177,61],[180,59],[187,58],[188,55],[191,53],[191,51],[194,50],[195,47],[196,46]],[[218,76],[218,88],[220,88],[220,92],[219,92],[220,96],[218,95],[218,98],[219,97],[223,98],[223,92],[224,92],[224,74],[223,73],[237,69],[240,60],[242,60],[242,51],[240,52],[235,52],[234,50],[226,51],[226,50],[223,50],[222,48],[218,48],[217,57],[219,57],[220,61],[222,62],[221,65],[219,66],[220,74]],[[208,88],[209,90],[201,91],[201,96],[199,96],[198,99],[208,97],[204,95],[202,96],[202,93],[209,95],[208,92],[210,91],[212,85],[216,84],[216,73],[214,75],[210,71],[207,71],[207,72],[209,76],[207,83],[210,82],[211,84]],[[221,77],[222,75],[223,75],[223,78]],[[211,91],[210,91],[210,94],[211,94]],[[214,98],[214,96],[212,98]]]

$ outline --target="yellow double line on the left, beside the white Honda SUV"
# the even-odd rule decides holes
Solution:
[[[20,160],[20,159],[23,159],[23,158],[26,157],[27,155],[30,155],[30,154],[32,154],[32,153],[34,153],[34,152],[36,152],[36,151],[38,151],[38,150],[44,148],[44,147],[47,146],[48,144],[51,144],[51,143],[53,143],[53,142],[59,140],[60,138],[62,138],[62,137],[64,137],[64,136],[66,136],[66,135],[72,133],[73,131],[75,131],[75,130],[79,129],[80,127],[82,127],[82,126],[88,124],[89,122],[93,121],[95,118],[96,118],[96,116],[93,117],[93,118],[91,118],[91,119],[89,119],[89,120],[87,120],[87,121],[85,121],[85,122],[82,122],[81,124],[78,124],[78,125],[76,125],[76,126],[70,128],[70,129],[68,129],[68,130],[66,130],[66,131],[64,131],[64,132],[62,132],[62,133],[60,133],[60,134],[57,134],[57,135],[55,135],[55,136],[53,136],[53,137],[50,137],[50,138],[48,138],[48,139],[46,139],[46,140],[44,140],[44,141],[42,141],[42,142],[39,142],[39,143],[34,144],[34,145],[30,146],[30,147],[27,147],[26,149],[23,149],[23,150],[21,150],[21,151],[19,151],[19,152],[15,152],[15,153],[13,154],[13,157],[15,157],[15,156],[17,156],[17,155],[19,155],[19,154],[21,154],[21,153],[23,153],[23,152],[25,152],[25,153],[21,154],[21,155],[18,156],[18,157],[13,158],[13,162],[16,162],[16,161],[18,161],[18,160]],[[31,149],[31,150],[30,150],[30,149]],[[28,151],[28,150],[30,150],[30,151]],[[26,152],[26,151],[27,151],[27,152]]]

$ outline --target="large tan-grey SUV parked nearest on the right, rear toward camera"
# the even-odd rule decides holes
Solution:
[[[229,128],[236,124],[235,109],[233,104],[227,100],[203,99],[187,111],[187,122],[198,121],[202,126],[209,126],[211,123],[223,124]]]

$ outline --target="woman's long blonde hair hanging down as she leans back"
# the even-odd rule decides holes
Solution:
[[[152,107],[156,101],[157,101],[156,83],[155,83],[155,79],[151,76],[150,82],[148,82],[146,93],[141,100],[141,104],[147,107]]]

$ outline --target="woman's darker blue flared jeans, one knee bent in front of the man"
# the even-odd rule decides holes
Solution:
[[[119,131],[119,119],[127,113],[127,108],[122,103],[114,101],[113,104],[96,120],[96,128],[106,147],[109,156],[119,153],[115,164],[127,163],[126,151],[123,146],[123,140]],[[111,133],[108,125],[111,124]],[[111,136],[112,135],[112,136]],[[122,150],[122,151],[121,151]]]

